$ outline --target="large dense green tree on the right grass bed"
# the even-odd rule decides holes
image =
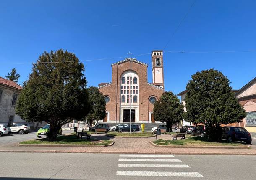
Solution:
[[[246,117],[232,92],[230,81],[220,71],[196,72],[186,88],[185,117],[189,122],[205,124],[210,141],[218,139],[221,124],[241,122]]]

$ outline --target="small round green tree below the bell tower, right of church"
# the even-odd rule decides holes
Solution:
[[[165,92],[161,98],[155,102],[153,115],[154,119],[159,122],[165,122],[167,132],[172,131],[172,124],[182,121],[183,105],[172,91]]]

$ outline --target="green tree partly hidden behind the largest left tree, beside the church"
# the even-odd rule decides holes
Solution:
[[[101,92],[96,87],[88,88],[90,111],[86,116],[87,124],[91,130],[92,124],[104,119],[106,114],[106,102]]]

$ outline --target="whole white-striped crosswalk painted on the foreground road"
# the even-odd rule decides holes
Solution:
[[[121,154],[118,159],[117,176],[157,176],[157,177],[203,177],[199,172],[173,171],[191,168],[181,164],[174,155]],[[145,163],[145,164],[144,164]],[[136,168],[136,170],[132,170]],[[140,168],[144,168],[140,171]],[[145,170],[145,168],[148,168]],[[171,171],[161,171],[159,168],[170,168]],[[171,169],[173,168],[173,169]],[[160,171],[158,171],[160,170]],[[166,169],[165,169],[166,170]],[[183,170],[183,169],[182,169]]]

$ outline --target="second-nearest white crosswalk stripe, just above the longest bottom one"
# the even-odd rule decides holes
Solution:
[[[162,168],[190,168],[188,165],[170,164],[118,164],[118,167],[162,167]]]

